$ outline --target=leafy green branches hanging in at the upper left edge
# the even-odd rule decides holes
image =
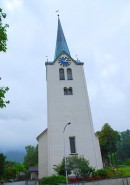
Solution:
[[[6,14],[2,12],[2,9],[0,8],[0,52],[6,52],[7,50],[7,27],[9,27],[8,24],[3,25],[2,19],[6,18]],[[1,77],[0,77],[1,80]],[[0,87],[0,108],[6,107],[6,104],[9,103],[9,101],[5,101],[5,94],[9,90],[8,87]]]

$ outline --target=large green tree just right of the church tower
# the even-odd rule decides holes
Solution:
[[[98,131],[96,134],[99,137],[103,164],[116,164],[117,142],[120,140],[119,133],[113,130],[108,123],[105,123],[102,130]]]

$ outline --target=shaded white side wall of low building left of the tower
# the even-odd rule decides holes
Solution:
[[[48,176],[48,139],[47,130],[38,138],[38,178]]]

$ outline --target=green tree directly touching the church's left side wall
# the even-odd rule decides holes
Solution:
[[[25,147],[26,155],[24,157],[24,164],[28,169],[31,166],[37,166],[38,164],[38,145],[31,146],[28,145]]]

